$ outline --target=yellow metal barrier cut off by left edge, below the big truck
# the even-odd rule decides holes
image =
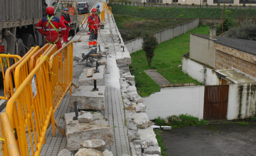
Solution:
[[[10,60],[9,58],[13,58],[13,60]],[[21,59],[21,57],[19,55],[0,54],[0,64],[1,64],[1,69],[2,69],[3,85],[4,85],[4,96],[0,96],[0,99],[4,99],[4,100],[8,99],[7,95],[6,95],[4,67],[8,67],[9,68],[10,67],[10,61],[13,61],[14,63],[16,63],[20,59]],[[12,83],[12,81],[11,81],[11,83]],[[11,87],[11,89],[13,90],[13,86]]]

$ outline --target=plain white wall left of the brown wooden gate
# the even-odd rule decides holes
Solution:
[[[142,98],[149,120],[186,113],[203,119],[204,86],[161,88],[160,92]]]

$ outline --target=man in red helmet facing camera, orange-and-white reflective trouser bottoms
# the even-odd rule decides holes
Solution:
[[[100,29],[99,19],[96,15],[96,9],[92,8],[92,14],[88,17],[87,23],[89,24],[89,48],[97,47],[98,30]]]

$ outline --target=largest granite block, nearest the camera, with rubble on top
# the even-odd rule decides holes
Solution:
[[[83,112],[79,114],[79,116],[82,116],[85,112],[84,114]],[[94,120],[88,123],[80,123],[78,120],[73,120],[74,116],[75,113],[65,114],[65,132],[69,151],[79,150],[81,143],[93,139],[101,139],[106,146],[114,144],[111,127],[100,113],[92,114]],[[102,151],[102,148],[100,149]]]

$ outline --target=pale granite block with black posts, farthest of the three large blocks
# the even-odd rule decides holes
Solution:
[[[98,67],[99,72],[92,74],[92,77],[87,77],[87,70],[91,69],[92,67],[85,67],[81,75],[78,79],[78,85],[79,86],[93,86],[94,81],[93,79],[97,80],[97,86],[103,86],[104,84],[104,74],[106,73],[106,66],[100,65]],[[94,67],[95,68],[95,67]]]

